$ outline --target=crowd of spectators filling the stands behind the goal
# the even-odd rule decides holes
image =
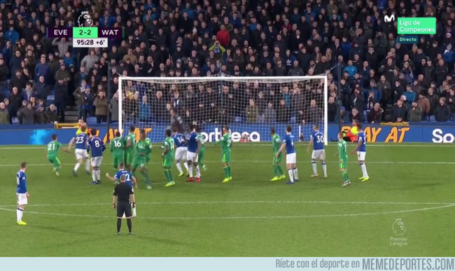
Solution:
[[[122,27],[124,39],[73,48],[47,38],[46,27],[72,27],[81,11],[94,27]],[[397,22],[384,22],[391,14],[436,17],[437,33],[397,43]],[[452,1],[443,0],[1,0],[0,124],[64,122],[69,105],[83,118],[116,121],[118,76],[219,74],[328,74],[329,95],[321,97],[318,82],[130,82],[120,97],[130,104],[125,116],[300,123],[319,118],[328,99],[332,122],[453,120],[454,20]]]

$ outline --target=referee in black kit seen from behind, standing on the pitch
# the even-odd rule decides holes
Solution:
[[[132,204],[130,204],[130,202],[132,202]],[[133,188],[125,183],[125,176],[121,176],[120,183],[118,183],[118,185],[116,185],[116,188],[114,188],[112,199],[112,207],[113,209],[117,209],[117,235],[120,235],[123,214],[125,214],[127,218],[127,225],[128,230],[130,230],[130,235],[133,235],[131,223],[131,205],[133,205],[133,207],[136,206]]]

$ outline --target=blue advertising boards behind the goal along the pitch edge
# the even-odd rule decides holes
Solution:
[[[309,131],[311,125],[294,125],[293,134],[297,136],[298,131]],[[106,141],[117,131],[116,128],[108,130],[106,125],[93,125],[97,128],[99,137]],[[153,143],[162,142],[165,137],[166,125],[145,126],[149,132],[148,137]],[[282,131],[286,125],[275,125],[276,131]],[[216,125],[205,125],[204,138],[208,142],[214,142],[221,138],[221,127]],[[272,138],[269,134],[267,125],[231,125],[232,139],[235,142],[267,142]],[[322,129],[322,127],[320,127]],[[342,129],[349,129],[344,126]],[[409,126],[386,126],[386,125],[367,125],[364,128],[368,142],[388,142],[388,143],[454,143],[455,123],[427,123],[425,125]],[[336,139],[338,125],[328,125],[328,140]],[[74,136],[76,129],[55,129],[53,125],[0,125],[0,145],[44,145],[50,140],[52,134],[57,134],[62,143],[69,142]],[[139,138],[139,129],[137,129]],[[303,134],[304,141],[309,139],[309,134]]]

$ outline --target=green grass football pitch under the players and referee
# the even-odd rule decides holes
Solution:
[[[165,188],[161,149],[148,165],[153,190],[139,176],[134,236],[116,236],[112,209],[114,174],[104,153],[102,184],[72,174],[73,153],[60,151],[60,176],[52,173],[44,146],[0,147],[0,254],[2,256],[455,256],[453,145],[368,144],[370,181],[358,181],[351,155],[352,184],[341,188],[336,146],[326,148],[328,179],[310,179],[311,153],[296,146],[300,183],[272,178],[272,145],[232,146],[229,183],[221,149],[208,145],[201,183],[176,177]],[[352,151],[354,144],[349,144]],[[27,161],[29,205],[15,223],[15,174]],[[284,167],[284,165],[282,165]],[[318,172],[322,175],[320,163]]]

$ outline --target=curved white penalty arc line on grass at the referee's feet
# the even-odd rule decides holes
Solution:
[[[136,219],[150,219],[150,220],[222,220],[222,219],[286,219],[286,218],[330,218],[330,217],[347,217],[347,216],[373,216],[381,214],[403,214],[411,213],[415,211],[429,211],[435,209],[454,207],[455,204],[447,204],[437,207],[427,207],[421,209],[409,209],[400,211],[381,211],[376,213],[360,213],[360,214],[311,214],[302,216],[207,216],[207,217],[141,217],[138,216]],[[0,211],[15,211],[11,209],[0,208]],[[87,218],[115,218],[116,216],[97,216],[94,214],[59,214],[59,213],[47,213],[39,211],[27,211],[27,214],[41,214],[45,216],[71,216],[71,217],[87,217]]]

